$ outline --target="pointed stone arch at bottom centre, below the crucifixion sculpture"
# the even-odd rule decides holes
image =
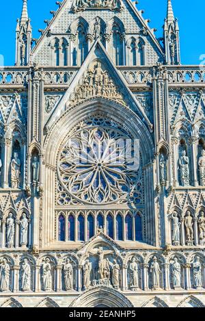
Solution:
[[[75,299],[70,307],[133,307],[124,294],[114,289],[107,287],[98,287],[93,290],[88,290]]]

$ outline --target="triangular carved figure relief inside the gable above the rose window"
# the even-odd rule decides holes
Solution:
[[[126,105],[120,88],[115,86],[109,72],[100,62],[94,62],[84,74],[81,84],[75,88],[74,93],[70,97],[70,101],[68,101],[68,105],[94,97],[113,99],[114,101],[118,101],[118,103],[122,103],[122,105]]]

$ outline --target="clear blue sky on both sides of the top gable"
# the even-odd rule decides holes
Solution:
[[[4,64],[14,64],[16,18],[20,18],[22,0],[1,1],[0,54]],[[205,54],[204,0],[172,0],[174,14],[180,25],[182,64],[200,64],[200,55]],[[45,19],[50,19],[50,10],[56,10],[55,0],[28,0],[29,17],[33,38],[39,37],[38,29],[44,29]],[[162,36],[162,25],[167,10],[167,0],[139,0],[137,8],[145,10],[144,18],[150,18],[150,27]]]

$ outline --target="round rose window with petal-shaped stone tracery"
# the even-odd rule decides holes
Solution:
[[[126,200],[139,180],[135,141],[118,129],[92,127],[70,136],[59,155],[66,192],[84,203]]]

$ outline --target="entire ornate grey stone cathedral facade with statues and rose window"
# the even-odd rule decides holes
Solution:
[[[0,306],[205,307],[205,73],[131,0],[27,0],[0,68]]]

